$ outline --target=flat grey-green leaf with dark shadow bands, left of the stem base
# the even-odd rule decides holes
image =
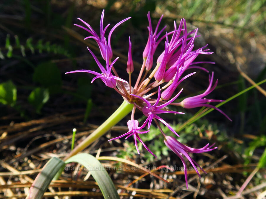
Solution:
[[[42,198],[43,194],[47,190],[53,177],[57,171],[64,166],[64,161],[57,157],[52,157],[43,167],[41,172],[37,175],[34,182],[32,183],[29,193],[26,199],[39,199]]]

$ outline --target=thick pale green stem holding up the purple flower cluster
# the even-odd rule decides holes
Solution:
[[[127,114],[130,113],[133,109],[133,104],[129,104],[126,101],[117,108],[117,110],[101,124],[92,134],[90,134],[85,140],[83,140],[77,147],[75,147],[65,158],[64,161],[77,154],[78,152],[85,149],[95,140],[99,139],[104,135],[108,130],[110,130],[114,125],[116,125],[121,119],[123,119]]]

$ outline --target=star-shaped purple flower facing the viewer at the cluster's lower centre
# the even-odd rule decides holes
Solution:
[[[158,103],[160,101],[160,96],[161,96],[160,86],[158,88],[158,98],[157,98],[156,102],[153,105],[151,105],[151,103],[149,101],[147,101],[147,99],[145,99],[143,97],[140,97],[140,96],[137,96],[137,95],[131,94],[132,96],[135,96],[137,98],[142,99],[147,104],[147,106],[144,106],[142,108],[142,112],[147,117],[147,119],[145,120],[144,124],[146,125],[147,122],[148,122],[148,129],[150,129],[151,122],[152,122],[153,118],[155,118],[155,119],[158,119],[159,121],[161,121],[165,126],[167,126],[168,129],[170,129],[174,134],[176,134],[177,136],[179,136],[176,133],[176,131],[166,121],[164,121],[162,118],[160,118],[157,114],[161,114],[161,113],[185,114],[185,113],[182,113],[182,112],[166,111],[166,110],[163,109],[164,107],[166,107],[167,105],[169,105],[170,103],[172,103],[180,95],[180,93],[182,92],[182,90],[183,89],[181,89],[181,91],[179,91],[179,93],[177,93],[177,95],[174,96],[171,100],[169,100],[168,102],[163,103],[163,104],[161,104],[159,106],[158,106]]]

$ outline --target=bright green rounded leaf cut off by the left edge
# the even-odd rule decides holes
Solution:
[[[17,101],[17,88],[11,80],[0,84],[0,103],[14,106]]]

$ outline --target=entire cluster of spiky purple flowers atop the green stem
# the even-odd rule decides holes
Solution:
[[[95,59],[95,62],[99,66],[101,73],[92,70],[75,70],[67,73],[86,72],[96,75],[93,78],[92,82],[95,79],[100,78],[103,81],[103,83],[105,83],[106,86],[114,88],[115,91],[121,94],[124,100],[126,100],[128,103],[134,104],[131,114],[131,120],[127,122],[129,131],[113,139],[119,139],[123,136],[126,136],[125,139],[127,139],[129,136],[133,136],[135,146],[139,154],[140,152],[137,147],[137,139],[143,144],[143,146],[151,154],[153,154],[153,152],[151,152],[150,149],[148,149],[145,143],[141,140],[139,134],[148,133],[149,130],[147,131],[140,131],[140,130],[143,129],[145,126],[147,126],[147,128],[150,129],[151,123],[154,120],[165,138],[166,146],[169,149],[171,149],[174,153],[176,153],[177,156],[179,156],[179,158],[181,159],[185,169],[186,185],[188,185],[187,171],[186,171],[186,164],[184,157],[186,157],[186,159],[189,160],[189,162],[192,164],[192,166],[199,174],[196,167],[196,166],[199,167],[199,165],[197,165],[197,163],[188,155],[188,153],[209,152],[213,149],[216,149],[216,147],[213,147],[213,145],[209,146],[208,144],[201,149],[194,149],[187,147],[184,144],[178,142],[174,137],[166,136],[166,134],[164,134],[164,132],[160,128],[157,120],[159,120],[161,123],[167,126],[168,129],[177,136],[179,135],[171,127],[171,125],[169,125],[164,119],[162,119],[158,115],[164,113],[173,113],[173,114],[184,114],[184,113],[178,111],[171,111],[167,107],[168,105],[182,106],[183,108],[195,108],[202,106],[211,107],[218,110],[220,113],[225,115],[231,121],[231,119],[223,111],[209,104],[210,102],[221,102],[222,100],[213,100],[213,99],[204,98],[209,93],[211,93],[217,86],[218,80],[216,80],[216,82],[213,85],[213,78],[214,78],[213,73],[209,77],[209,86],[204,93],[197,96],[185,98],[183,101],[176,103],[174,101],[182,92],[183,90],[182,88],[174,97],[172,97],[174,93],[176,93],[179,84],[182,81],[184,81],[186,78],[189,78],[191,75],[195,74],[195,72],[187,73],[188,70],[197,68],[209,73],[208,70],[202,68],[201,66],[199,66],[199,64],[202,63],[214,64],[213,62],[194,62],[194,60],[200,54],[210,55],[213,52],[209,52],[209,49],[206,49],[207,45],[198,49],[194,49],[194,40],[196,39],[196,37],[199,37],[199,35],[197,34],[198,29],[194,29],[188,32],[185,19],[180,20],[178,27],[176,25],[176,22],[174,22],[174,30],[171,32],[165,32],[165,34],[163,34],[166,26],[163,27],[160,31],[158,31],[160,22],[163,18],[162,15],[155,27],[155,30],[153,31],[150,12],[149,12],[147,14],[149,22],[149,26],[147,27],[149,31],[148,40],[142,54],[143,56],[142,67],[138,72],[138,78],[133,87],[131,82],[131,74],[134,71],[134,64],[132,60],[132,42],[130,40],[130,37],[129,37],[128,61],[126,65],[126,72],[129,74],[129,81],[121,79],[117,74],[116,70],[114,69],[114,64],[119,57],[117,57],[112,61],[113,52],[111,48],[111,34],[120,24],[130,19],[130,17],[117,23],[111,29],[111,31],[108,34],[108,38],[106,39],[105,32],[107,28],[110,26],[110,24],[108,24],[105,28],[103,28],[103,16],[104,16],[104,10],[102,12],[100,19],[100,36],[98,36],[98,34],[92,29],[92,27],[90,27],[89,24],[87,24],[80,18],[78,19],[83,24],[85,24],[86,27],[83,27],[78,24],[74,25],[86,30],[90,34],[90,36],[85,37],[85,39],[91,38],[97,42],[103,60],[106,61],[106,67],[104,67],[99,62],[99,60],[96,58],[93,52],[87,47],[89,52]],[[171,37],[171,39],[169,39],[168,37],[169,38]],[[154,66],[153,60],[154,60],[155,51],[158,45],[163,40],[164,40],[164,51],[159,55],[156,61],[156,65]],[[148,74],[149,76],[147,76]],[[156,94],[157,98],[156,97],[154,98],[153,96]],[[147,119],[140,127],[139,127],[139,122],[134,119],[134,114],[136,109],[142,111],[143,115],[147,117]],[[110,139],[109,141],[113,139]]]

